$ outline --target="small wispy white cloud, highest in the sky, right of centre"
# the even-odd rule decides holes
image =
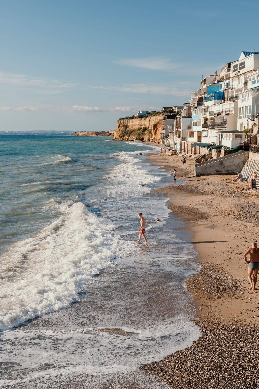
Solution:
[[[150,69],[150,70],[172,70],[179,67],[179,65],[167,58],[133,58],[122,59],[116,61],[119,65],[127,65],[136,68]]]

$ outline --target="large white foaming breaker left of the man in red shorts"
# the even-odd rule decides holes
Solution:
[[[116,255],[133,250],[83,203],[66,201],[60,210],[38,236],[2,255],[0,330],[68,307]]]

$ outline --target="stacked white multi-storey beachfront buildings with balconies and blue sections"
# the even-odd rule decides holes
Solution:
[[[204,77],[177,115],[172,147],[187,155],[206,152],[202,142],[237,147],[259,133],[259,52],[242,51],[217,75]],[[245,130],[245,133],[244,133]],[[251,134],[251,135],[252,135]],[[258,140],[257,140],[258,138]],[[259,141],[259,134],[251,139]]]

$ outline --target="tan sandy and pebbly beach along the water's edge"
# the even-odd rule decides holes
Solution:
[[[194,160],[153,154],[149,162],[176,169],[177,179],[194,171]],[[171,194],[170,209],[186,220],[202,265],[187,280],[196,305],[195,322],[202,337],[183,351],[144,365],[175,388],[258,388],[259,290],[249,291],[243,253],[257,240],[258,192],[233,175],[180,180],[163,192]],[[188,184],[188,185],[186,185]],[[186,200],[179,193],[186,192]]]

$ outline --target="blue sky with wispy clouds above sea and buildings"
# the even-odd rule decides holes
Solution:
[[[182,105],[202,76],[259,51],[258,23],[244,24],[238,0],[0,7],[0,131],[114,130],[141,109]]]

